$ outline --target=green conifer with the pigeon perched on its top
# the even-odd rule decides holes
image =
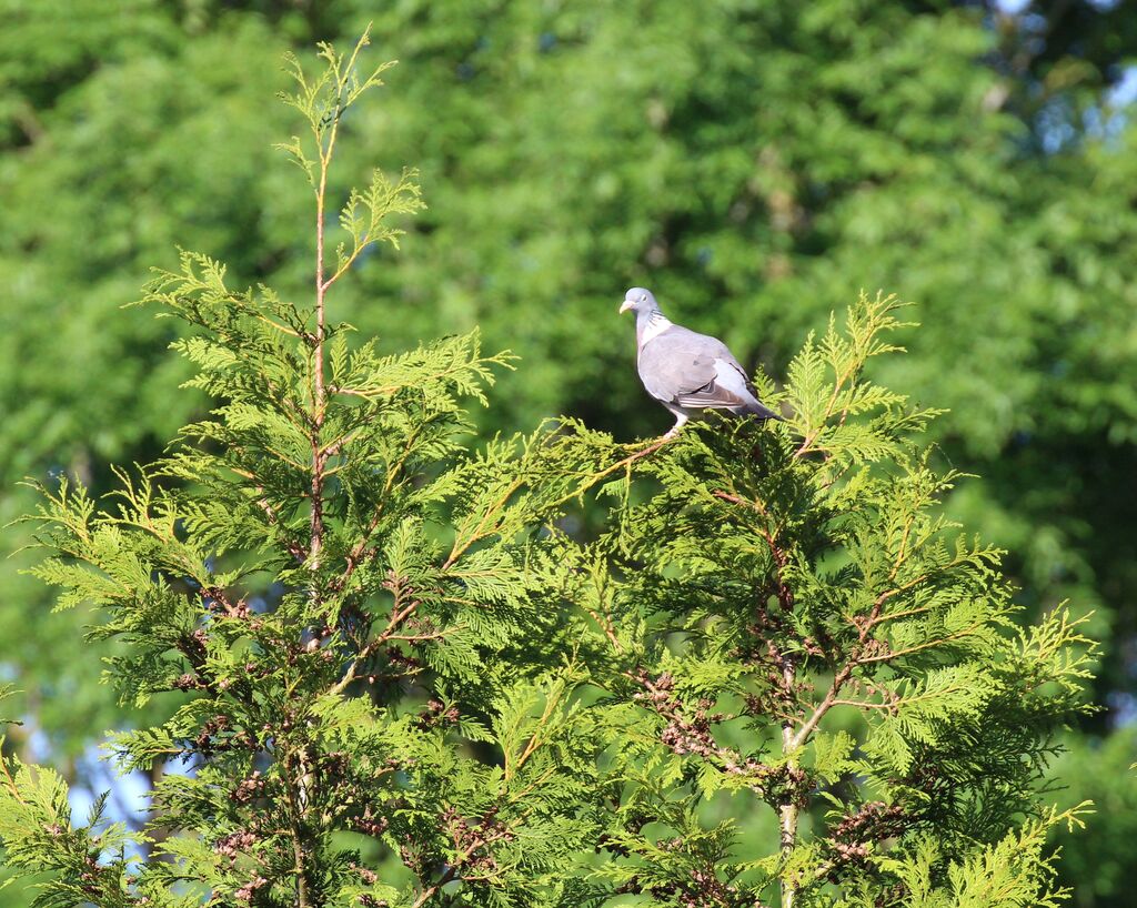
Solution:
[[[792,360],[785,424],[711,420],[638,457],[568,599],[606,644],[621,742],[599,875],[653,903],[1052,906],[1040,778],[1085,709],[1063,608],[1019,627],[1001,553],[937,511],[937,413],[864,373],[897,303]],[[637,498],[639,497],[639,498]],[[642,902],[637,902],[642,903]]]

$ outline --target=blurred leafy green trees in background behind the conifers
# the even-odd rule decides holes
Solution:
[[[406,253],[340,309],[388,349],[482,326],[522,357],[482,428],[670,417],[632,370],[626,286],[773,375],[860,288],[918,303],[881,377],[949,407],[947,502],[1011,551],[1020,601],[1093,610],[1103,709],[1070,731],[1077,906],[1135,902],[1137,13],[1117,0],[0,0],[0,518],[25,476],[147,460],[204,401],[134,300],[176,247],[308,294],[302,181],[273,142],[281,53],[374,22],[398,58],[340,174],[422,172]],[[22,543],[8,530],[3,549]],[[7,747],[77,790],[115,724],[81,613],[0,565]],[[130,781],[116,785],[132,807]],[[0,893],[0,906],[24,895]]]

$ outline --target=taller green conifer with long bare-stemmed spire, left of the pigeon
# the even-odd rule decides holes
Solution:
[[[364,253],[397,245],[392,217],[422,207],[413,170],[376,170],[329,248],[345,115],[387,68],[359,74],[366,44],[322,47],[315,77],[289,61],[312,301],[233,289],[183,253],[142,302],[192,326],[173,347],[216,408],[119,469],[109,501],[64,478],[30,518],[59,608],[93,603],[92,638],[130,644],[106,673],[122,705],[168,715],[108,742],[122,772],[166,767],[141,831],[105,800],[73,825],[58,774],[3,763],[0,842],[9,868],[43,874],[36,905],[587,901],[553,872],[595,841],[595,761],[529,569],[553,544],[529,531],[572,474],[534,481],[545,436],[467,453],[462,401],[508,363],[476,334],[383,355],[329,317]]]

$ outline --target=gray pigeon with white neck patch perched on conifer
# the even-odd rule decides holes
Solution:
[[[781,419],[763,407],[746,370],[717,338],[672,324],[650,290],[633,286],[621,313],[636,313],[636,365],[647,392],[675,415],[664,438],[674,438],[699,410],[730,410],[737,416]]]

